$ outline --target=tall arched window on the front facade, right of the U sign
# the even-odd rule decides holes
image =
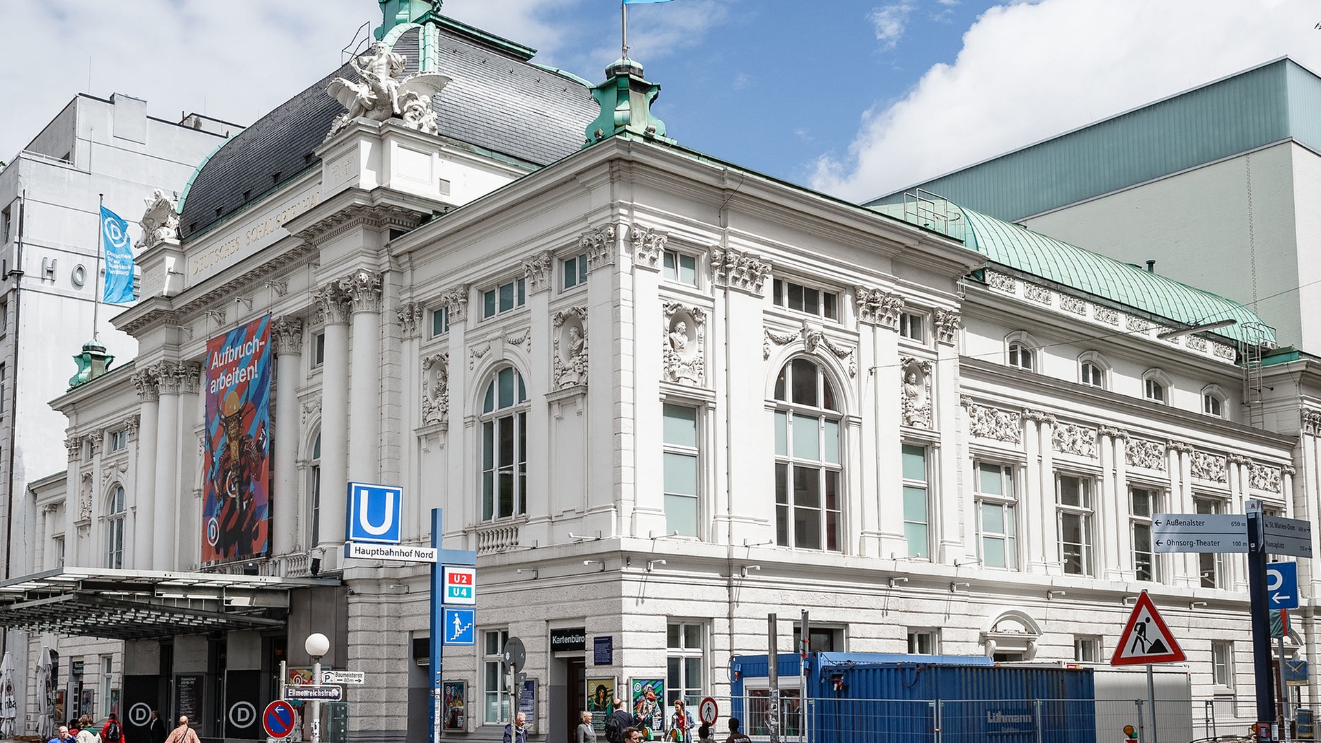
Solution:
[[[486,386],[481,420],[482,520],[527,513],[527,389],[513,366]]]

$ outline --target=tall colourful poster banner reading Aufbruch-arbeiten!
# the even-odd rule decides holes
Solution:
[[[202,562],[271,549],[271,316],[206,344]]]

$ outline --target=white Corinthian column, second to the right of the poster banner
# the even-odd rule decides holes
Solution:
[[[349,305],[339,282],[317,293],[325,316],[325,361],[321,365],[321,524],[317,547],[322,570],[338,565],[343,543],[345,488],[349,481]]]

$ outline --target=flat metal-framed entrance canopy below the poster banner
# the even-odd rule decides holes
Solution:
[[[0,627],[157,640],[284,625],[292,588],[338,579],[62,567],[0,583]]]

